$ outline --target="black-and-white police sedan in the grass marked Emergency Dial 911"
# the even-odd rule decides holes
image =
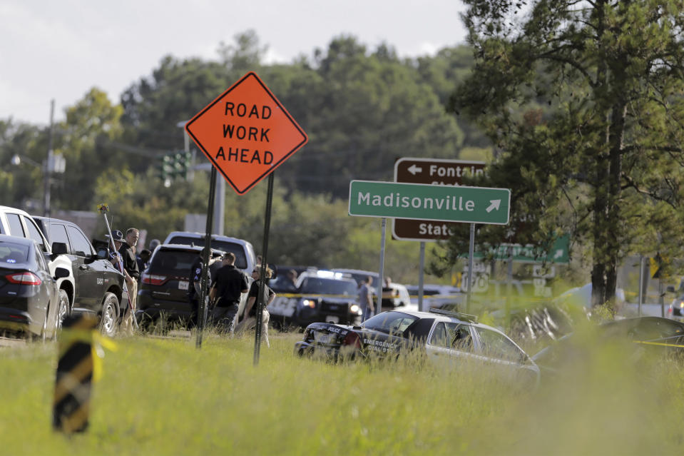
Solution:
[[[360,326],[312,323],[295,343],[296,355],[322,353],[331,358],[394,356],[422,350],[430,360],[473,360],[513,368],[533,382],[539,369],[513,340],[476,318],[448,310],[383,312]]]

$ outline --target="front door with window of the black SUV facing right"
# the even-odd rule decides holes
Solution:
[[[76,275],[76,299],[73,307],[97,312],[104,296],[104,270],[86,235],[76,226],[51,224],[53,230],[65,229],[70,247],[73,274]],[[57,228],[61,227],[61,228]]]

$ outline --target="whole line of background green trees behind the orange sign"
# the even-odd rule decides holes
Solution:
[[[53,128],[53,149],[66,157],[66,173],[53,176],[53,210],[94,212],[98,203],[108,203],[115,228],[146,229],[148,239],[183,229],[187,213],[206,212],[208,173],[197,171],[193,181],[165,187],[153,167],[163,154],[183,148],[179,123],[247,71],[260,75],[310,136],[275,173],[273,262],[377,269],[380,222],[347,216],[349,180],[391,180],[394,159],[401,156],[457,158],[463,146],[480,147],[471,149],[476,155],[491,153],[482,141],[465,144],[465,137],[476,138],[474,129],[467,126],[464,136],[465,124],[444,110],[456,82],[451,78],[464,78],[472,60],[463,49],[402,60],[387,43],[371,50],[353,36],[339,36],[291,64],[265,65],[267,48],[254,31],[234,38],[218,46],[213,61],[164,56],[149,76],[131,83],[121,105],[93,88],[69,107],[66,121]],[[0,141],[1,203],[33,203],[32,212],[40,213],[41,170],[5,163],[13,153],[41,163],[48,129],[10,120],[0,123]],[[245,196],[226,193],[225,233],[256,248],[262,244],[265,188],[264,181]],[[395,280],[415,277],[417,251],[416,243],[389,240],[388,228],[387,273]]]

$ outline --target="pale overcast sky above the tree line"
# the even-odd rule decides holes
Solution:
[[[49,123],[93,86],[118,103],[160,59],[214,59],[220,41],[254,29],[267,61],[289,62],[340,34],[400,56],[433,54],[465,39],[456,0],[2,0],[0,118]]]

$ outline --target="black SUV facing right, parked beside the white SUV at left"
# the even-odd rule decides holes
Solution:
[[[123,275],[108,260],[107,250],[96,250],[83,230],[58,218],[34,217],[51,245],[66,245],[71,259],[74,290],[70,312],[98,315],[100,328],[106,335],[116,333],[118,323],[128,306],[128,292]]]

